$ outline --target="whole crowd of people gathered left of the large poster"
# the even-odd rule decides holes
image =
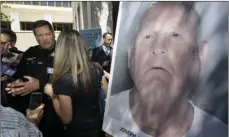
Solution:
[[[112,34],[90,59],[76,30],[55,40],[52,25],[38,20],[33,33],[38,45],[21,52],[16,34],[1,31],[1,136],[104,137]]]

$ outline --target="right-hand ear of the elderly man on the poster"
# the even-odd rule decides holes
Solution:
[[[201,70],[203,69],[207,59],[208,46],[209,45],[206,40],[198,42]]]

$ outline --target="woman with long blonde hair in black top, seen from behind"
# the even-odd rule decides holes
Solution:
[[[103,72],[90,62],[79,32],[61,32],[56,43],[53,82],[45,86],[45,93],[66,125],[66,137],[104,136],[100,73]]]

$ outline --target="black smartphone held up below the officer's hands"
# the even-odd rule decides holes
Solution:
[[[30,96],[29,109],[34,110],[42,104],[42,93],[33,92]]]

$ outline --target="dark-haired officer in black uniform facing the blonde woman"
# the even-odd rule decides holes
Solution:
[[[33,24],[33,33],[39,45],[30,47],[23,55],[14,78],[17,81],[9,83],[6,90],[15,96],[16,110],[26,114],[29,108],[32,92],[44,93],[44,86],[52,74],[55,55],[55,35],[51,24],[38,20]],[[64,126],[54,111],[51,100],[43,94],[45,104],[44,116],[40,130],[44,137],[63,137]]]

